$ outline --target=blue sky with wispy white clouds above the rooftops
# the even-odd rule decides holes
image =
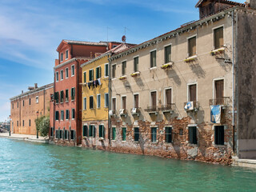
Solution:
[[[11,97],[35,82],[54,82],[54,59],[62,39],[121,42],[126,33],[126,42],[146,42],[198,20],[197,2],[0,0],[0,122],[10,115]]]

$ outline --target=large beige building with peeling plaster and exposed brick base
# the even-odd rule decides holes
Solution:
[[[255,71],[254,43],[240,39],[254,39],[255,10],[218,2],[199,1],[200,20],[109,59],[111,150],[222,164],[255,155],[254,82],[243,75]]]

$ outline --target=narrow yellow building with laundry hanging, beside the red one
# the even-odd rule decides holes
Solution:
[[[120,44],[105,54],[85,62],[82,67],[82,146],[104,149],[109,144],[109,61],[117,54],[134,46]]]

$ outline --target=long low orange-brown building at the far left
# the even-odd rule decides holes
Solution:
[[[50,95],[54,83],[29,87],[30,91],[10,98],[10,129],[13,134],[37,134],[34,120],[50,113]]]

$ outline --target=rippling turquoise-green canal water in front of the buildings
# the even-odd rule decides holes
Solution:
[[[0,191],[256,191],[256,170],[0,138]]]

